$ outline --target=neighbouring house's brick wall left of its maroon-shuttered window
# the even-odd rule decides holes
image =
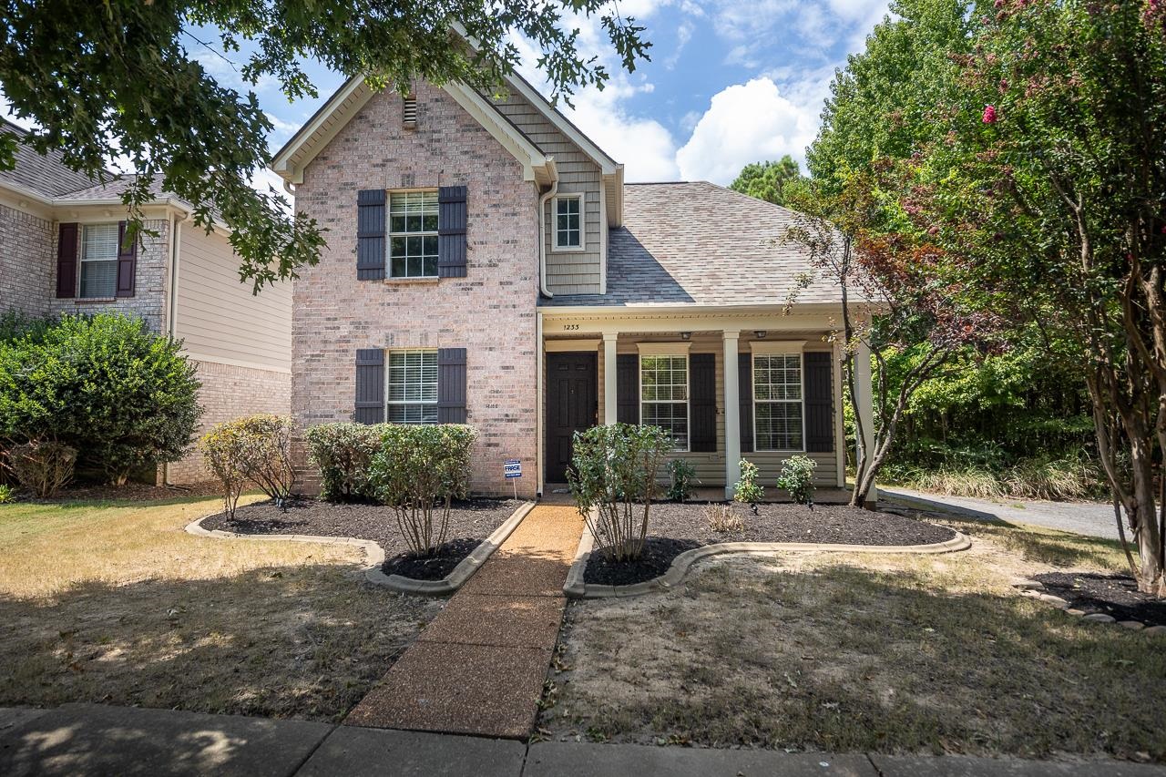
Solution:
[[[56,256],[52,222],[0,205],[0,313],[48,313]]]

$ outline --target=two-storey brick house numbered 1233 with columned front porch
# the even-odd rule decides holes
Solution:
[[[469,422],[486,494],[510,490],[511,459],[520,492],[555,488],[573,434],[617,419],[672,430],[704,485],[730,490],[743,454],[772,484],[805,452],[842,488],[841,295],[801,288],[792,214],[710,183],[625,184],[529,84],[507,85],[402,97],[353,78],[275,155],[329,230],[294,284],[301,427]]]

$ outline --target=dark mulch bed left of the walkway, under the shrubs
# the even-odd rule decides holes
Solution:
[[[301,501],[285,510],[273,502],[260,502],[236,510],[234,520],[222,513],[212,516],[203,522],[203,527],[240,534],[316,534],[373,540],[385,548],[385,574],[440,580],[510,518],[520,504],[519,499],[455,502],[449,512],[448,539],[435,555],[427,558],[408,553],[392,509],[380,505]]]

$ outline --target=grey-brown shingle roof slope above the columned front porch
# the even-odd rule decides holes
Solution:
[[[607,242],[607,293],[556,294],[543,306],[784,304],[814,268],[782,240],[794,212],[705,181],[630,183],[624,226]],[[798,302],[838,302],[821,278]]]

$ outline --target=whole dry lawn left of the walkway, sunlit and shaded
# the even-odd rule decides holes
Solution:
[[[0,506],[0,706],[335,721],[441,608],[365,583],[354,550],[183,532],[219,509]]]

